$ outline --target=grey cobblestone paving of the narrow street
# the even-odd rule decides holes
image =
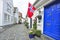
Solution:
[[[14,25],[0,34],[0,40],[30,40],[28,29],[23,24]]]

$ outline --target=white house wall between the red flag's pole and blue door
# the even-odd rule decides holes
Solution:
[[[42,33],[43,33],[43,19],[44,19],[44,8],[42,7],[42,8],[40,8],[39,9],[40,11],[41,11],[41,13],[40,13],[40,15],[42,15],[42,20],[41,20],[41,22],[39,23],[38,22],[38,19],[37,19],[37,29],[38,30],[41,30],[42,31]],[[34,12],[34,15],[33,15],[33,17],[32,17],[32,27],[33,27],[33,20],[34,20],[34,18],[37,16],[37,15],[39,15],[39,11],[38,9]]]

